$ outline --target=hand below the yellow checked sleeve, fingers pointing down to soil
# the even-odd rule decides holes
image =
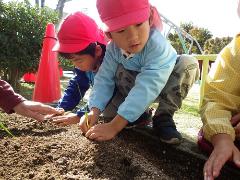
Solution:
[[[213,152],[204,165],[204,180],[213,180],[218,177],[223,165],[232,160],[240,168],[240,152],[227,134],[213,136]]]

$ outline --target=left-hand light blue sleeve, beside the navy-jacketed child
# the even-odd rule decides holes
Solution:
[[[103,63],[94,78],[94,85],[89,97],[89,108],[96,107],[103,111],[112,98],[115,88],[115,74],[118,63],[112,56],[112,45],[106,50]]]

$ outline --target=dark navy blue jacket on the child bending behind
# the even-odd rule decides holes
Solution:
[[[63,97],[58,102],[58,107],[63,108],[65,111],[72,111],[94,83],[95,73],[91,71],[84,72],[77,68],[74,71],[76,75],[69,81]],[[87,107],[82,107],[77,111],[77,115],[81,117],[86,110],[88,110]]]

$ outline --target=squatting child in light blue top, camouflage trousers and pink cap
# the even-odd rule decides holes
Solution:
[[[154,132],[166,143],[180,143],[173,115],[198,79],[197,61],[177,56],[158,30],[159,16],[148,0],[97,0],[97,9],[111,42],[95,77],[90,113],[81,118],[81,130],[90,139],[110,140],[155,101]],[[111,112],[112,120],[96,124],[103,111],[105,116]],[[87,121],[94,126],[87,128]]]

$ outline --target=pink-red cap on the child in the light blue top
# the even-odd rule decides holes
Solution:
[[[97,0],[97,9],[106,32],[142,23],[150,16],[148,0]]]

